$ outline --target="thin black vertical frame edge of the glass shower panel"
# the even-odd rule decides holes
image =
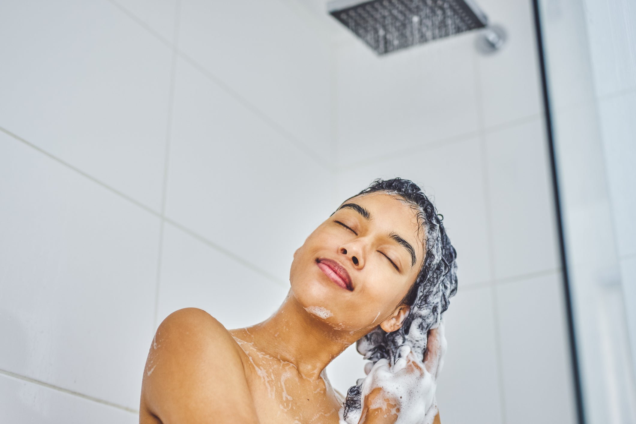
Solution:
[[[576,415],[579,424],[585,424],[585,413],[583,408],[583,388],[581,387],[581,374],[579,368],[579,357],[576,350],[576,334],[574,332],[574,311],[572,309],[572,297],[570,296],[570,278],[567,268],[567,255],[565,254],[565,235],[563,233],[563,215],[561,208],[561,196],[558,185],[558,175],[556,172],[556,151],[554,128],[552,124],[552,112],[550,109],[550,95],[548,91],[548,72],[546,70],[545,51],[543,48],[543,31],[541,29],[541,13],[539,9],[540,0],[532,0],[534,11],[534,27],[537,39],[537,52],[539,53],[539,67],[541,70],[541,91],[543,93],[543,107],[546,122],[546,135],[548,148],[550,149],[550,168],[552,174],[553,194],[556,209],[556,225],[558,229],[559,250],[561,264],[563,268],[563,291],[565,293],[565,306],[567,309],[567,328],[570,342],[570,355],[572,363],[572,378],[574,379],[574,394],[576,397]]]

